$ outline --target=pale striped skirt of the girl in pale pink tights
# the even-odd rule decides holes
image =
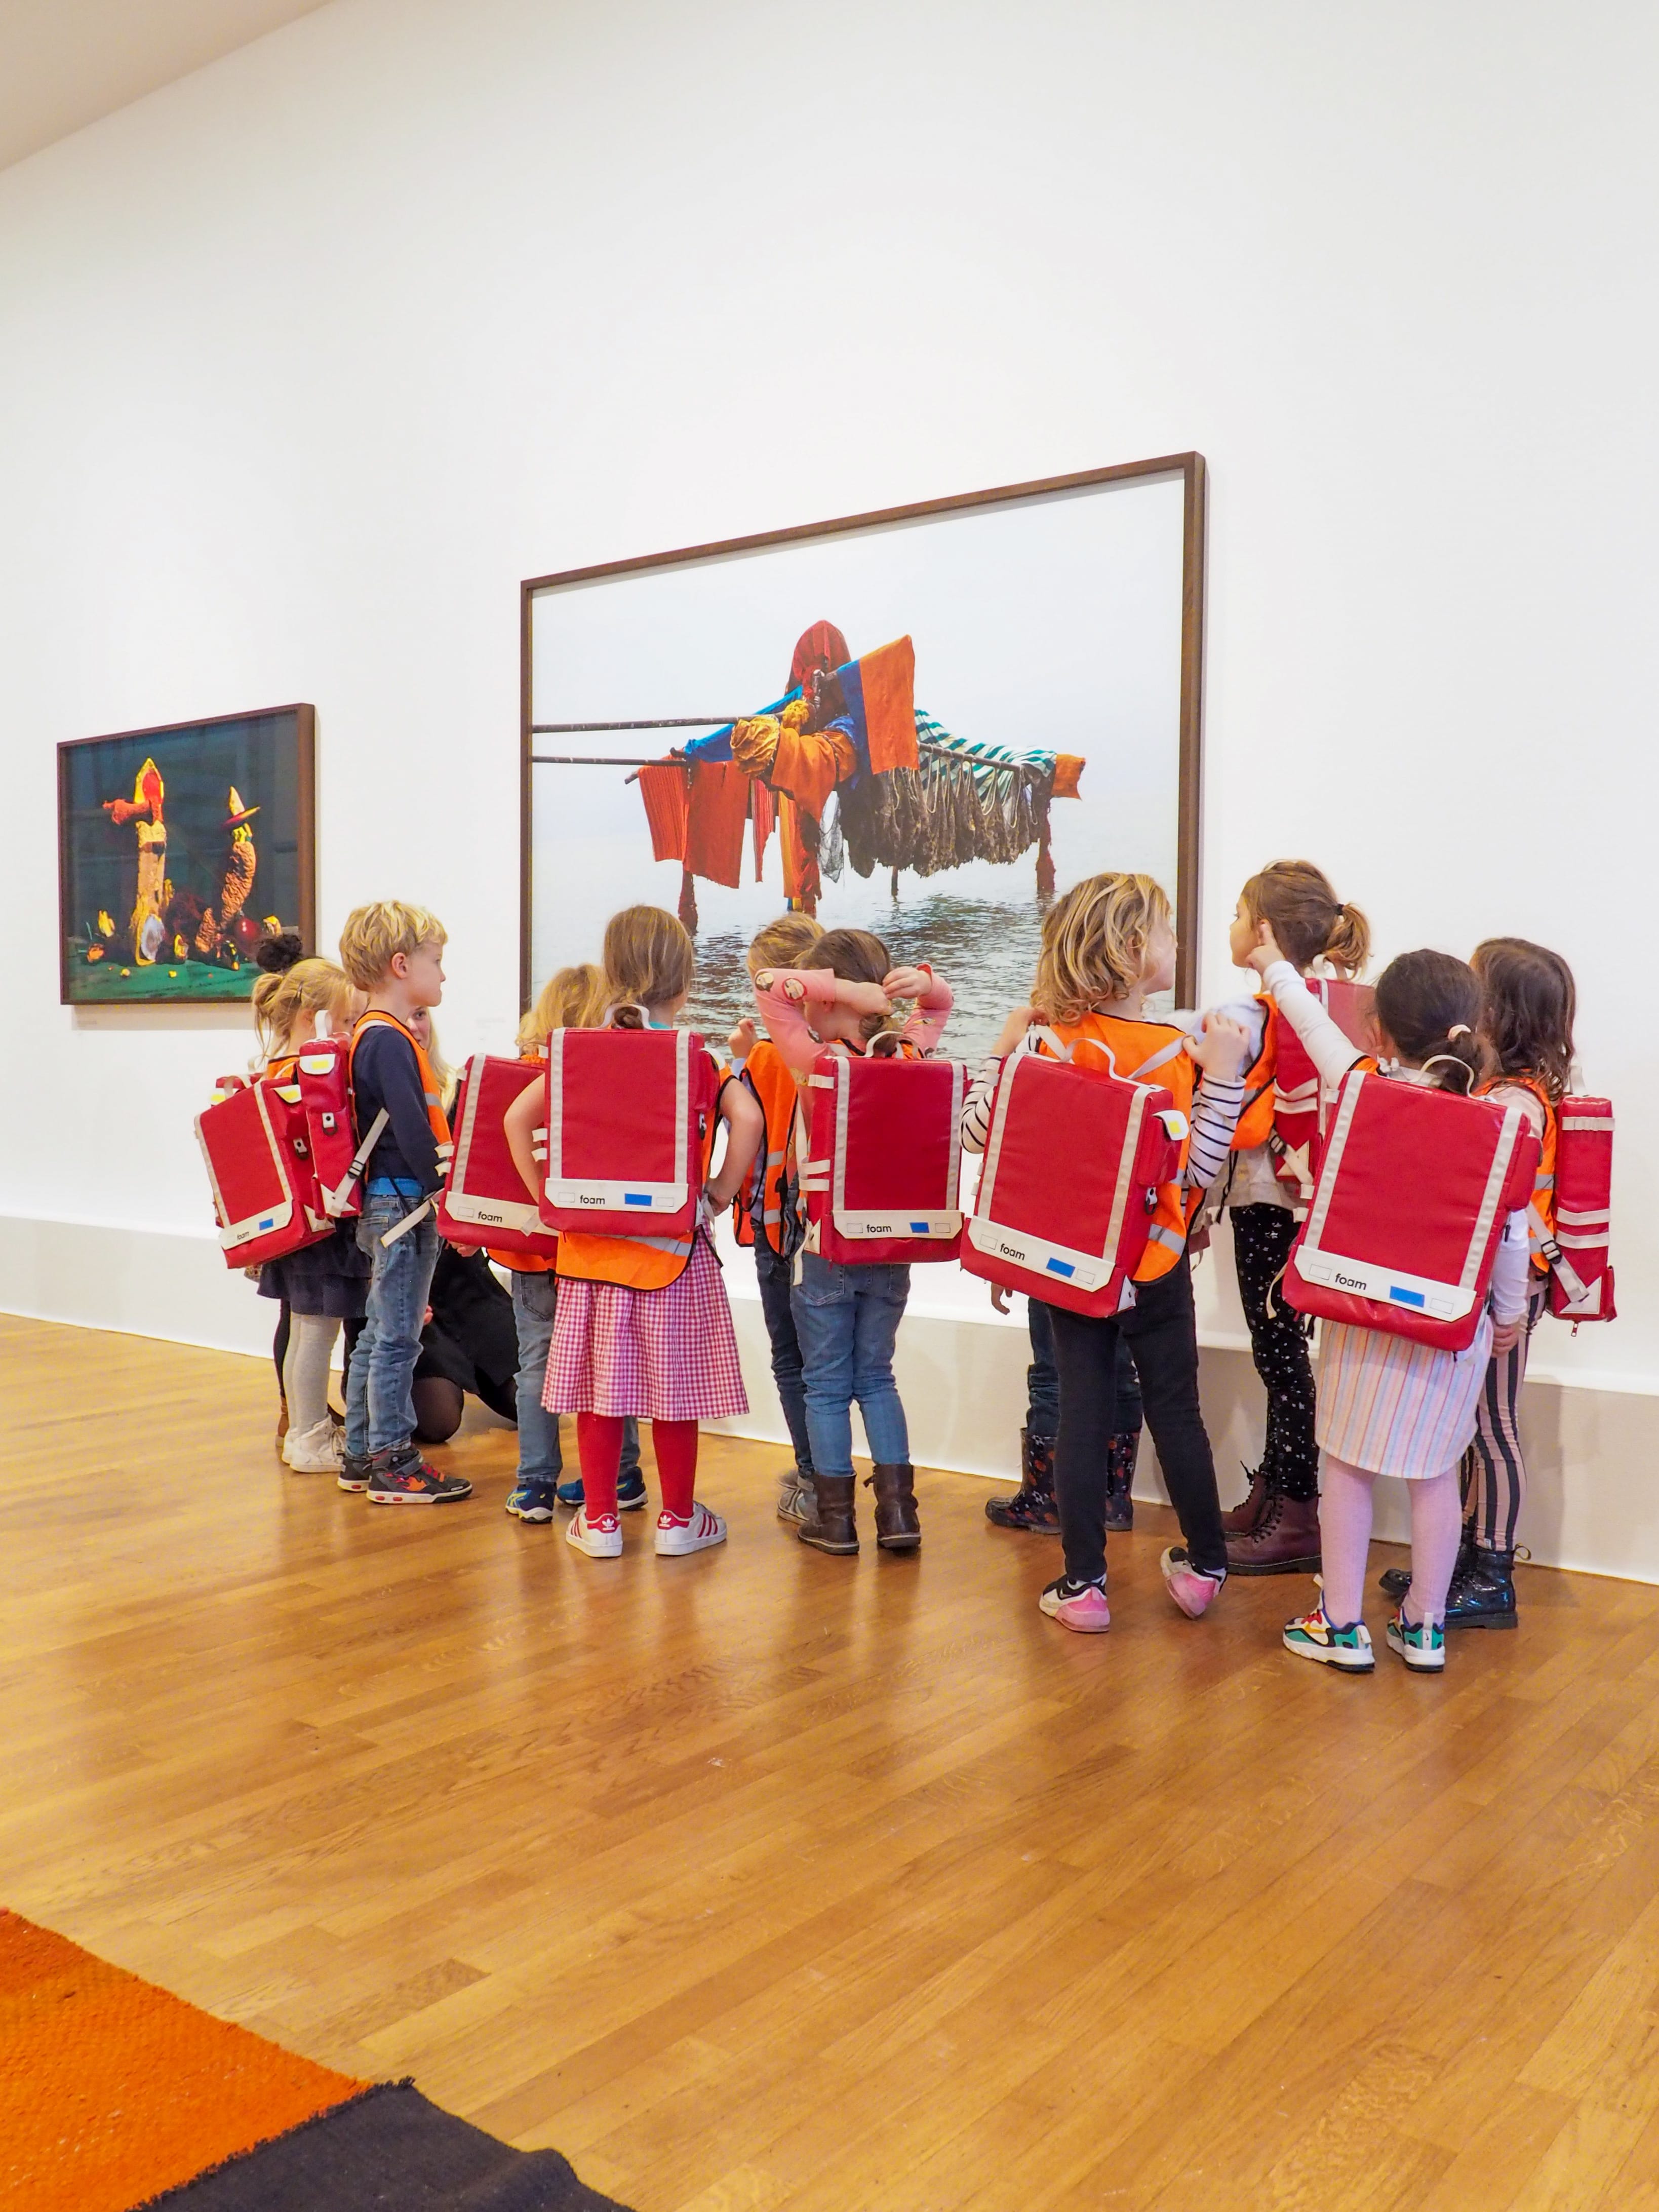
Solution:
[[[1332,1458],[1407,1482],[1444,1475],[1462,1460],[1491,1360],[1491,1312],[1480,1316],[1467,1352],[1413,1345],[1345,1321],[1321,1323],[1318,1338],[1314,1436]]]

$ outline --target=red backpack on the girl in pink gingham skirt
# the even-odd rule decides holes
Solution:
[[[555,1029],[546,1040],[551,1230],[690,1237],[719,1073],[688,1029]]]

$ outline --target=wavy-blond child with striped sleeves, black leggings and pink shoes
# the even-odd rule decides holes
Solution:
[[[1040,1606],[1062,1628],[1082,1635],[1110,1626],[1106,1447],[1119,1429],[1117,1352],[1124,1338],[1135,1352],[1146,1422],[1186,1537],[1161,1559],[1170,1597],[1181,1613],[1199,1619],[1228,1579],[1214,1460],[1199,1411],[1186,1232],[1228,1157],[1250,1037],[1243,1022],[1225,1013],[1208,1013],[1194,1035],[1150,1020],[1144,1002],[1172,982],[1175,927],[1159,885],[1150,876],[1124,874],[1075,885],[1044,920],[1035,1004],[1013,1009],[962,1110],[962,1144],[980,1152],[1002,1060],[1013,1051],[1042,1051],[1033,1033],[1033,1024],[1042,1022],[1062,1044],[1088,1037],[1106,1046],[1126,1077],[1157,1060],[1155,1079],[1175,1093],[1190,1121],[1179,1179],[1157,1194],[1152,1230],[1130,1285],[1133,1301],[1099,1318],[1057,1305],[1048,1312],[1060,1367],[1055,1491],[1066,1573],[1048,1584]],[[1194,1066],[1203,1073],[1197,1093]]]

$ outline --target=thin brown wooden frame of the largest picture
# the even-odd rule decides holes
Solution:
[[[1201,770],[1203,770],[1203,615],[1206,615],[1206,507],[1208,471],[1201,453],[1161,453],[1152,460],[1115,462],[1106,469],[1079,469],[1071,476],[1033,478],[1022,484],[995,484],[942,500],[916,500],[907,507],[883,507],[827,522],[803,522],[781,531],[757,531],[748,538],[726,538],[710,544],[675,546],[668,553],[646,553],[633,560],[595,562],[586,568],[564,568],[526,577],[520,584],[520,1004],[529,1006],[531,978],[531,841],[533,841],[533,611],[542,593],[602,577],[622,577],[675,564],[761,553],[830,538],[845,531],[872,531],[885,524],[922,522],[969,513],[971,509],[1013,507],[1051,495],[1088,491],[1135,480],[1172,480],[1183,484],[1181,529],[1181,668],[1179,668],[1179,832],[1177,832],[1177,938],[1179,960],[1175,993],[1190,1006],[1197,995],[1199,960],[1199,867],[1201,867]]]

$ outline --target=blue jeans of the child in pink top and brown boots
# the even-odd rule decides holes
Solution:
[[[909,1298],[909,1267],[841,1267],[801,1254],[790,1310],[801,1338],[807,1438],[821,1475],[852,1473],[852,1400],[865,1416],[878,1467],[909,1460],[905,1407],[894,1383],[894,1343]]]

